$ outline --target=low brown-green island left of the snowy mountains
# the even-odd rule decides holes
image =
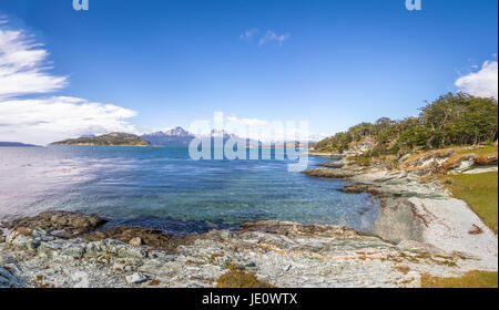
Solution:
[[[152,146],[144,138],[125,133],[111,133],[94,137],[69,138],[51,145],[95,145],[95,146]]]

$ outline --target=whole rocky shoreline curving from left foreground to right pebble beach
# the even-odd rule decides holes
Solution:
[[[236,266],[275,287],[419,287],[422,275],[498,268],[497,236],[437,182],[415,173],[330,164],[305,172],[346,178],[380,202],[375,235],[282,221],[172,236],[95,231],[105,219],[49,211],[3,224],[0,287],[214,287]]]

